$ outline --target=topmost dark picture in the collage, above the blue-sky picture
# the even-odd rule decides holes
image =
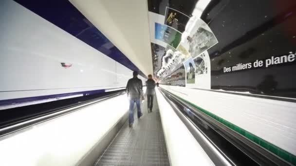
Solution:
[[[181,33],[185,31],[185,27],[189,18],[190,17],[175,9],[166,7],[165,24],[178,30]]]

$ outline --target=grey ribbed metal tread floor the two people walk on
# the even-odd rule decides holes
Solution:
[[[134,124],[128,121],[116,135],[95,166],[169,166],[166,142],[156,97],[153,112],[147,111],[147,100],[141,104],[143,116]]]

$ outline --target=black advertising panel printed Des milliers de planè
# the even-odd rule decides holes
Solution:
[[[229,1],[209,23],[219,40],[208,50],[211,89],[296,98],[295,7],[293,0]]]

